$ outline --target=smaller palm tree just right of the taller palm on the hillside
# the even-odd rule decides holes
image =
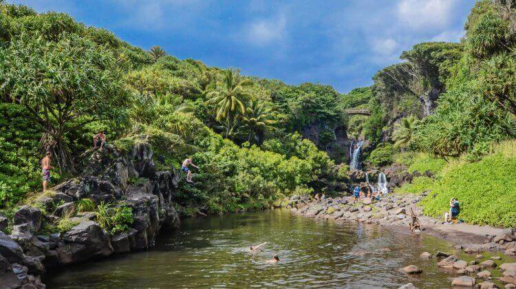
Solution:
[[[249,131],[248,142],[252,142],[253,139],[259,142],[265,131],[274,129],[271,125],[277,122],[276,118],[277,114],[272,107],[265,103],[251,102],[241,120],[244,124],[242,129]]]

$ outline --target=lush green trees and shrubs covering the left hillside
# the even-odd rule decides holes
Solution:
[[[346,167],[324,151],[344,118],[344,98],[330,86],[241,76],[159,46],[147,52],[26,6],[0,4],[0,31],[2,207],[39,190],[45,151],[57,163],[54,184],[76,175],[100,129],[125,153],[147,134],[158,169],[193,156],[201,169],[195,186],[181,184],[184,211],[268,206],[283,195],[332,193],[347,180]],[[302,137],[307,128],[318,132],[315,144]],[[108,231],[125,230],[127,209],[76,203],[76,211],[92,207]]]

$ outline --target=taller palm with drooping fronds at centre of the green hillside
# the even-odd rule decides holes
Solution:
[[[222,81],[206,94],[206,104],[215,105],[215,120],[224,124],[224,133],[228,137],[233,134],[236,117],[245,114],[246,101],[253,99],[248,92],[253,83],[241,78],[238,70],[226,69],[222,73]]]

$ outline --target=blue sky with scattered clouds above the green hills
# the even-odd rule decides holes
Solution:
[[[288,84],[370,85],[424,41],[459,41],[473,0],[10,0],[66,12],[148,50]]]

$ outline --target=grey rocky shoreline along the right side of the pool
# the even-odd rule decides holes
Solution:
[[[294,196],[288,202],[288,208],[293,213],[304,217],[314,217],[326,220],[345,220],[378,224],[380,226],[402,226],[409,231],[411,217],[410,208],[420,215],[422,231],[418,233],[430,234],[456,244],[455,249],[468,254],[478,254],[486,251],[498,251],[507,256],[516,255],[516,231],[512,228],[492,228],[488,226],[474,226],[467,224],[442,224],[442,221],[432,217],[421,216],[422,208],[416,204],[424,197],[422,195],[389,195],[380,201],[371,202],[369,199],[352,203],[350,197],[323,198],[310,200],[307,197]],[[386,248],[387,249],[387,248]],[[424,252],[422,259],[435,258],[440,268],[451,269],[451,274],[459,275],[451,281],[453,287],[499,288],[493,283],[491,272],[486,269],[497,267],[492,257],[482,261],[483,255],[476,255],[475,260],[467,262],[455,255],[437,252]],[[407,274],[421,274],[422,270],[414,265],[400,269]],[[505,263],[499,266],[502,277],[497,278],[505,288],[516,288],[516,263]],[[477,281],[477,279],[479,281]],[[415,288],[412,284],[402,288]]]

